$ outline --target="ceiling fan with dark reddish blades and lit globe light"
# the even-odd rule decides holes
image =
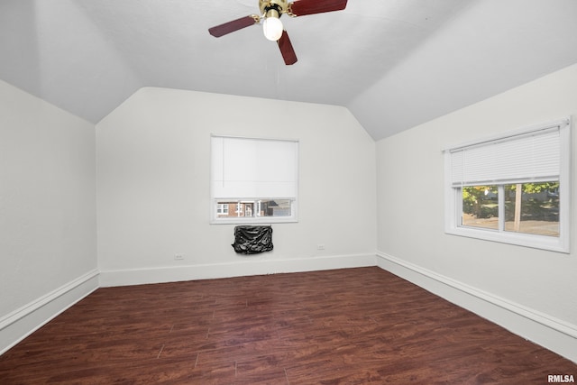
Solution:
[[[297,54],[290,43],[289,34],[280,22],[280,16],[288,14],[291,17],[297,17],[306,14],[340,11],[346,7],[346,2],[347,0],[296,0],[289,3],[288,0],[259,0],[261,15],[244,16],[232,22],[209,28],[208,32],[219,38],[227,33],[259,24],[262,21],[264,36],[270,41],[277,41],[282,58],[285,60],[285,64],[289,66],[297,62]]]

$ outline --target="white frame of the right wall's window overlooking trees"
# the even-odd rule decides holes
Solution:
[[[571,118],[555,120],[545,124],[536,124],[530,127],[502,133],[483,140],[467,142],[444,150],[444,232],[445,234],[460,235],[486,241],[515,244],[519,246],[548,250],[552,252],[570,252],[570,225],[572,213],[572,173],[571,173]],[[526,234],[504,231],[504,229],[484,229],[473,226],[461,225],[463,215],[463,187],[454,187],[452,182],[451,151],[459,148],[479,145],[486,142],[496,142],[508,137],[515,137],[526,133],[533,133],[554,127],[559,127],[560,142],[560,170],[559,170],[559,236],[547,236],[539,234]],[[519,180],[518,183],[538,182],[534,179]],[[499,188],[499,221],[504,215],[503,187],[510,184],[509,181],[491,183]]]

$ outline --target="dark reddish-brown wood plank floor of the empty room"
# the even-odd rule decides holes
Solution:
[[[379,268],[97,289],[2,384],[546,384],[577,365]]]

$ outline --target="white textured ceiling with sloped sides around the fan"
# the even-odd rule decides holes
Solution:
[[[378,140],[577,62],[575,0],[349,0],[282,17],[293,66],[259,26],[207,32],[256,13],[258,0],[0,0],[0,78],[93,123],[140,87],[173,87],[344,105]]]

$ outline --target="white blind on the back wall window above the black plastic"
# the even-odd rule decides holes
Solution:
[[[298,142],[212,136],[213,198],[290,198],[298,190]]]

